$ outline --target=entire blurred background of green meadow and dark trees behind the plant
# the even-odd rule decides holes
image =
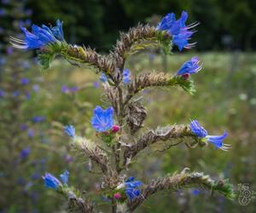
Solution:
[[[20,26],[30,28],[64,21],[70,43],[91,46],[107,53],[119,31],[140,23],[156,25],[169,12],[189,12],[189,22],[201,22],[192,38],[195,49],[165,56],[148,49],[133,55],[125,67],[132,75],[154,70],[176,73],[184,61],[198,55],[203,69],[193,76],[195,95],[179,88],[146,89],[148,110],[144,130],[159,124],[187,124],[198,119],[212,133],[227,130],[228,153],[213,146],[164,152],[157,144],[137,158],[131,175],[147,181],[183,170],[202,170],[213,177],[248,183],[256,191],[256,2],[253,0],[1,0],[0,3],[0,212],[66,212],[66,201],[44,188],[45,171],[70,170],[70,182],[95,196],[99,176],[90,174],[88,161],[68,147],[63,125],[73,124],[79,133],[95,136],[90,125],[96,105],[102,101],[99,76],[86,66],[55,60],[42,71],[32,51],[9,46],[9,35],[20,36]],[[254,41],[254,42],[253,42]],[[108,209],[106,209],[108,212]],[[245,206],[203,190],[166,191],[148,199],[137,212],[256,212],[256,199]]]

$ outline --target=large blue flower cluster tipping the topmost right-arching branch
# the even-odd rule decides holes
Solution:
[[[188,13],[183,11],[180,19],[176,20],[175,14],[166,14],[166,16],[160,21],[156,27],[159,31],[166,31],[172,35],[172,42],[177,45],[179,51],[183,48],[190,49],[195,43],[189,43],[190,37],[195,31],[190,31],[191,28],[198,25],[198,23],[186,26],[185,22],[188,19]]]

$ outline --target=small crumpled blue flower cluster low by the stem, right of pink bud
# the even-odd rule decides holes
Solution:
[[[135,199],[140,196],[141,190],[139,187],[143,185],[142,181],[135,181],[133,176],[125,181],[125,194],[129,199]]]

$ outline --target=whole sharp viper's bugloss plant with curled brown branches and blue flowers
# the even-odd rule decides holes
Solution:
[[[166,72],[144,72],[131,74],[125,67],[125,60],[138,51],[147,48],[159,47],[166,54],[172,53],[173,45],[178,49],[190,49],[195,43],[189,43],[194,32],[191,30],[198,23],[186,26],[187,12],[176,20],[175,14],[167,14],[158,26],[139,25],[127,33],[122,33],[113,51],[109,55],[100,55],[94,49],[72,45],[64,40],[62,22],[57,21],[55,27],[32,26],[32,32],[21,28],[25,39],[11,37],[11,43],[18,49],[38,49],[38,59],[44,68],[48,68],[56,55],[61,55],[73,64],[86,64],[91,66],[102,81],[103,94],[106,97],[105,106],[97,106],[90,120],[96,133],[96,139],[88,138],[75,133],[72,125],[64,127],[65,133],[71,138],[70,145],[73,150],[83,153],[90,162],[96,164],[102,176],[99,181],[102,197],[111,200],[113,212],[134,211],[143,201],[154,193],[169,189],[205,188],[211,192],[216,191],[228,199],[235,194],[229,181],[214,181],[210,176],[199,172],[189,172],[187,169],[181,173],[174,173],[150,181],[136,181],[135,177],[127,179],[127,171],[136,163],[139,153],[158,141],[178,141],[172,143],[177,146],[185,143],[187,147],[203,147],[208,142],[215,147],[227,151],[229,145],[223,143],[224,135],[208,135],[201,125],[193,120],[190,124],[173,124],[158,127],[155,130],[143,129],[144,120],[148,113],[143,106],[141,98],[137,95],[143,89],[180,86],[189,94],[195,93],[191,74],[199,72],[202,68],[200,60],[192,57],[186,61],[177,73],[170,75]],[[132,138],[132,141],[131,141]],[[212,152],[217,152],[212,150]],[[53,187],[57,192],[68,199],[69,210],[81,212],[95,212],[97,204],[90,201],[90,194],[81,195],[79,190],[67,187],[68,172],[64,172],[59,181],[55,176],[47,173],[44,182],[47,187]],[[136,177],[139,178],[139,177]],[[220,184],[221,182],[221,184]],[[71,183],[69,183],[70,185]],[[122,208],[120,208],[122,206]]]

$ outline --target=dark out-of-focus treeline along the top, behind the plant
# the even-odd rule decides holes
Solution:
[[[72,43],[99,50],[111,48],[119,30],[137,22],[155,24],[160,17],[183,10],[190,23],[201,22],[193,41],[197,49],[256,49],[255,0],[27,0],[33,23],[64,20],[64,32]]]

